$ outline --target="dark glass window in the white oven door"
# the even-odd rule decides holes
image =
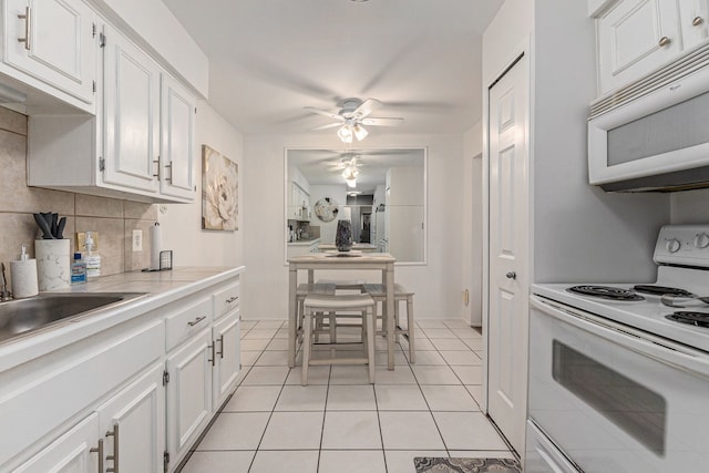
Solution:
[[[558,340],[552,359],[557,383],[655,454],[665,454],[667,402],[661,395]]]

